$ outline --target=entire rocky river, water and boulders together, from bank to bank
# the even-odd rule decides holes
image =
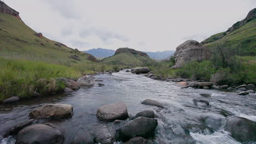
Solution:
[[[95,77],[71,93],[1,104],[0,143],[256,143],[254,93],[181,88],[126,70]]]

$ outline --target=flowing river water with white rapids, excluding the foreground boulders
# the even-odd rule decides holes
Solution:
[[[227,116],[237,115],[256,121],[255,95],[237,95],[206,89],[181,89],[173,82],[157,81],[143,75],[120,71],[113,75],[97,75],[104,80],[103,87],[82,87],[71,94],[20,101],[17,104],[0,105],[0,143],[15,143],[15,137],[3,139],[3,135],[15,125],[26,122],[31,110],[49,103],[73,105],[74,115],[61,120],[42,119],[65,129],[65,141],[71,143],[78,133],[91,133],[98,127],[113,127],[112,122],[102,122],[96,117],[98,107],[124,102],[130,116],[143,110],[154,110],[158,119],[154,143],[240,143],[224,130]],[[211,94],[203,97],[200,94]],[[143,105],[145,99],[153,99],[164,104],[165,109]],[[195,100],[206,100],[195,104]],[[121,143],[121,142],[118,142]],[[248,142],[255,143],[255,142]]]

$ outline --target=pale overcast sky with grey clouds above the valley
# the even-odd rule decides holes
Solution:
[[[255,0],[4,0],[49,39],[79,50],[97,47],[175,50],[226,31],[256,7]]]

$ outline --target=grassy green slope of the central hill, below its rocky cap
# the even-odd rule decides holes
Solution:
[[[152,65],[155,63],[150,57],[136,55],[130,52],[117,53],[112,57],[104,58],[102,61],[108,64],[129,65],[131,67]]]

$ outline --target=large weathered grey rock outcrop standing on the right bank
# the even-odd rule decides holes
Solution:
[[[182,68],[183,64],[191,61],[203,61],[209,59],[211,56],[210,50],[203,47],[195,40],[188,40],[179,45],[174,53],[176,64],[172,69]]]

